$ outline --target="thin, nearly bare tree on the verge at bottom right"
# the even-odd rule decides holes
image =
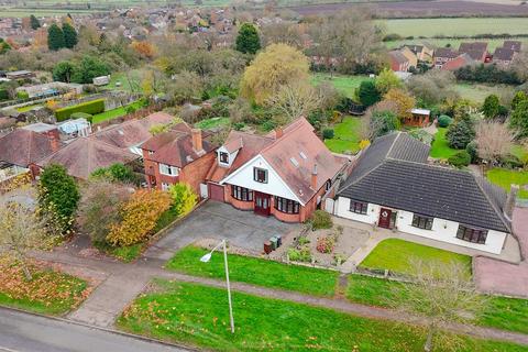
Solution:
[[[474,322],[485,309],[485,296],[476,290],[463,264],[411,262],[413,283],[395,285],[388,297],[398,299],[389,304],[427,322],[425,351],[433,351],[435,346],[459,351],[461,338],[442,328],[450,323]]]

